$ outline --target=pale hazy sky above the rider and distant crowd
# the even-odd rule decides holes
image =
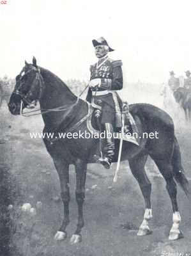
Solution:
[[[191,70],[190,0],[7,0],[0,4],[0,77],[36,56],[61,79],[89,78],[91,40],[104,36],[128,81],[162,83]]]

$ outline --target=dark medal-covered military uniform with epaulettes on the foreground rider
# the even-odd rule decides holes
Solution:
[[[87,100],[97,102],[102,100],[102,124],[114,124],[115,104],[112,91],[123,88],[122,61],[111,60],[108,56],[103,57],[94,65],[90,66],[91,78],[100,79],[100,84],[96,88],[89,88]]]

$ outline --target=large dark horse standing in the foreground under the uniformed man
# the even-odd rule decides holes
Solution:
[[[11,94],[9,109],[13,115],[20,114],[20,108],[31,106],[34,101],[39,100],[45,123],[44,132],[57,131],[88,132],[87,123],[84,116],[88,113],[88,102],[77,98],[69,90],[59,77],[52,74],[45,68],[33,64],[24,66],[20,74],[16,77],[16,85]],[[21,104],[22,102],[22,104]],[[187,195],[190,195],[190,186],[185,177],[181,165],[181,155],[178,141],[174,136],[174,125],[167,113],[149,104],[132,104],[130,113],[134,116],[135,123],[139,131],[139,146],[124,141],[121,159],[128,160],[130,169],[144,196],[145,212],[144,220],[139,227],[138,236],[151,233],[149,220],[152,218],[151,211],[151,182],[149,181],[144,165],[148,156],[155,161],[158,169],[164,176],[166,188],[172,202],[173,225],[169,233],[169,239],[175,240],[182,236],[179,230],[181,221],[176,199],[176,182]],[[76,125],[82,120],[79,125]],[[147,134],[157,133],[157,138],[145,138],[143,132]],[[66,238],[66,226],[69,223],[69,165],[75,165],[76,189],[75,196],[78,206],[77,229],[71,238],[72,243],[81,241],[81,230],[84,226],[82,206],[85,197],[86,170],[88,163],[95,163],[94,156],[99,152],[99,140],[96,138],[62,138],[54,142],[44,139],[45,146],[52,157],[59,179],[61,182],[61,198],[64,204],[63,223],[55,235],[56,240]],[[118,159],[119,140],[116,139],[116,151],[114,161]]]

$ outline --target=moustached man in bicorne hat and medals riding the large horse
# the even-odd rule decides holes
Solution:
[[[123,72],[121,60],[111,60],[108,54],[114,51],[105,38],[100,37],[92,41],[95,47],[95,55],[98,62],[90,66],[91,77],[89,81],[89,90],[86,100],[93,104],[102,105],[101,124],[106,134],[113,133],[113,124],[116,124],[116,115],[120,111],[119,96],[116,90],[123,88]],[[100,103],[98,103],[100,102]],[[116,127],[119,125],[116,124]],[[105,147],[105,157],[100,158],[100,163],[105,168],[110,168],[112,156],[114,155],[114,140],[106,138],[107,146]]]

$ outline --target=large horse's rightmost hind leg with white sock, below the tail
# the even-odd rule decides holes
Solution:
[[[183,237],[182,232],[179,230],[179,225],[181,221],[181,216],[180,212],[178,211],[178,203],[176,199],[177,195],[177,189],[176,189],[176,183],[174,182],[173,179],[173,167],[171,163],[167,163],[165,160],[155,160],[155,163],[158,166],[159,171],[162,173],[165,181],[166,181],[166,188],[169,193],[169,196],[171,198],[172,202],[172,211],[173,211],[173,216],[172,216],[172,228],[170,230],[169,234],[169,240],[176,240],[181,237]]]

